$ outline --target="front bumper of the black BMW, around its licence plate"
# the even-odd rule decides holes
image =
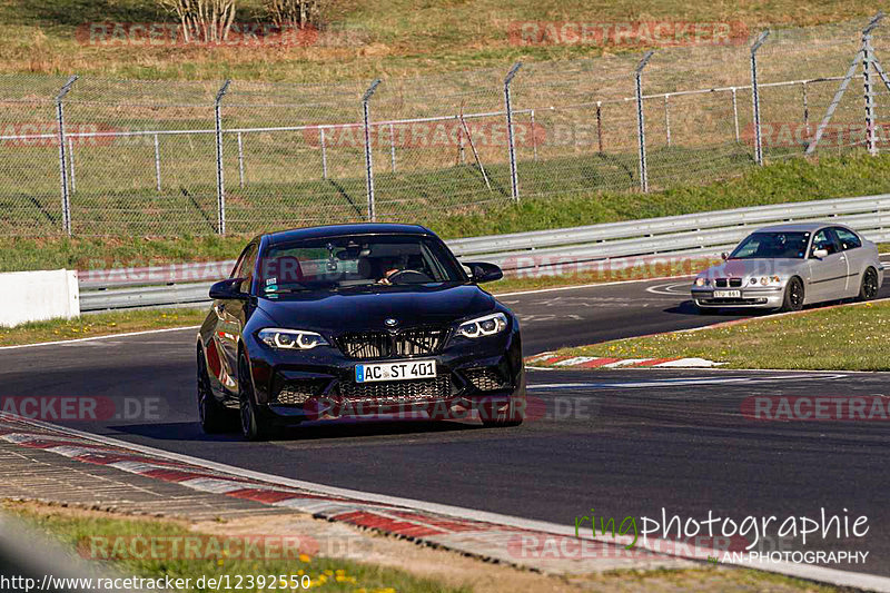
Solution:
[[[435,360],[435,379],[355,382],[357,360],[336,347],[308,352],[249,348],[257,407],[266,422],[295,425],[339,417],[469,418],[524,405],[525,378],[518,330],[478,339],[452,338]],[[409,362],[398,358],[393,362]]]

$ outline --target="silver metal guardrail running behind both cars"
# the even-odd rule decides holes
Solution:
[[[876,243],[890,241],[890,194],[860,198],[777,204],[711,213],[609,223],[575,228],[446,241],[464,260],[485,260],[507,274],[558,274],[566,263],[607,263],[612,269],[646,256],[703,257],[731,249],[769,224],[831,220]],[[81,273],[81,310],[206,303],[212,280],[235,261]],[[181,284],[184,280],[194,283]],[[200,280],[200,281],[198,281]],[[161,285],[161,286],[158,286]]]

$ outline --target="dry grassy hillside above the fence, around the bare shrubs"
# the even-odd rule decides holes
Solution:
[[[241,0],[238,21],[266,21],[261,0]],[[877,0],[742,2],[692,0],[333,0],[327,21],[354,31],[344,47],[151,48],[79,43],[77,27],[90,21],[172,20],[151,0],[2,0],[0,70],[162,79],[335,80],[372,79],[429,71],[481,68],[518,59],[596,56],[601,48],[515,47],[514,21],[586,22],[633,20],[743,21],[764,26],[810,26],[877,12]],[[621,50],[621,48],[619,48]],[[610,48],[610,52],[614,48]]]

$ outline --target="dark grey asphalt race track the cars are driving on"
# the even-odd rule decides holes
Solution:
[[[695,315],[689,280],[504,296],[526,355],[562,345],[738,318]],[[881,297],[890,296],[883,288]],[[0,350],[0,397],[115,401],[96,434],[270,474],[573,525],[576,516],[661,521],[774,515],[868,516],[862,538],[800,540],[780,550],[869,552],[890,575],[884,422],[768,422],[742,413],[756,395],[890,396],[890,374],[624,369],[531,370],[533,417],[475,423],[304,426],[269,443],[207,436],[197,424],[195,330]],[[847,510],[847,511],[844,511]],[[775,524],[772,535],[775,536]],[[770,546],[782,545],[775,541]]]

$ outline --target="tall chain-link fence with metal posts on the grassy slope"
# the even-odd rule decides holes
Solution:
[[[426,223],[887,149],[880,19],[339,85],[0,77],[0,235]],[[593,202],[592,202],[593,204]]]

